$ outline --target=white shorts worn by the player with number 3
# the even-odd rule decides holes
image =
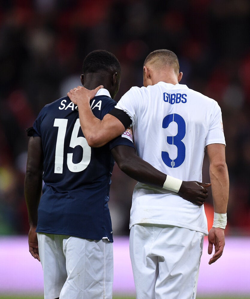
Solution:
[[[129,251],[137,299],[194,299],[204,234],[167,225],[134,225]]]

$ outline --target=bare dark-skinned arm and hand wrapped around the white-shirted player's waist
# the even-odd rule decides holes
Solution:
[[[137,156],[133,147],[118,145],[111,149],[111,153],[119,168],[132,179],[157,188],[163,187],[166,174]],[[207,187],[209,186],[210,184],[197,181],[183,181],[178,195],[201,206],[207,198]]]

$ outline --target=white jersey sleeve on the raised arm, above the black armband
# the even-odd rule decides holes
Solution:
[[[121,109],[128,114],[131,118],[131,125],[133,126],[136,122],[137,115],[140,109],[142,95],[139,87],[132,87],[127,91],[119,100],[115,108]]]

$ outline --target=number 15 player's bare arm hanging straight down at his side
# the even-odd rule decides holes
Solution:
[[[29,251],[40,261],[37,240],[37,209],[40,202],[43,182],[43,148],[40,137],[30,137],[28,143],[27,168],[24,181],[24,194],[28,210],[30,230]]]

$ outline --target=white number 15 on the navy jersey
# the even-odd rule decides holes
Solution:
[[[58,127],[54,173],[63,173],[64,139],[67,123],[68,120],[65,118],[55,118],[54,120],[54,127]],[[67,154],[67,166],[71,172],[83,171],[90,164],[91,148],[84,137],[78,137],[79,128],[80,121],[78,118],[72,131],[69,147],[75,148],[77,145],[80,145],[83,149],[83,156],[79,163],[73,163],[73,153]]]

